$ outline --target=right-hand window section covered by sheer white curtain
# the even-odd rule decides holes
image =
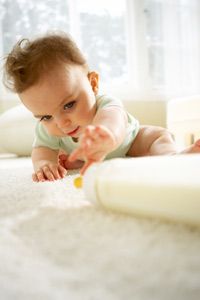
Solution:
[[[200,1],[146,0],[149,75],[171,94],[200,92]]]

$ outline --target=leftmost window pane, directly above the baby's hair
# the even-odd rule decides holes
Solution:
[[[67,1],[3,0],[1,29],[3,53],[22,37],[31,37],[48,29],[69,30]]]

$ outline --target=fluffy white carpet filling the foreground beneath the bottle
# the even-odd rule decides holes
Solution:
[[[0,160],[1,300],[199,300],[200,229],[111,213]]]

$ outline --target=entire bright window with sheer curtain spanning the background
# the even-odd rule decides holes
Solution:
[[[2,54],[53,29],[73,35],[114,91],[200,93],[199,0],[0,0]]]

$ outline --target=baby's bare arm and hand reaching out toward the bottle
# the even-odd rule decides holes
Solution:
[[[93,162],[102,161],[122,143],[126,123],[126,114],[123,108],[118,106],[101,109],[96,114],[92,125],[87,126],[80,137],[79,147],[69,156],[71,161],[85,161],[81,174]]]

